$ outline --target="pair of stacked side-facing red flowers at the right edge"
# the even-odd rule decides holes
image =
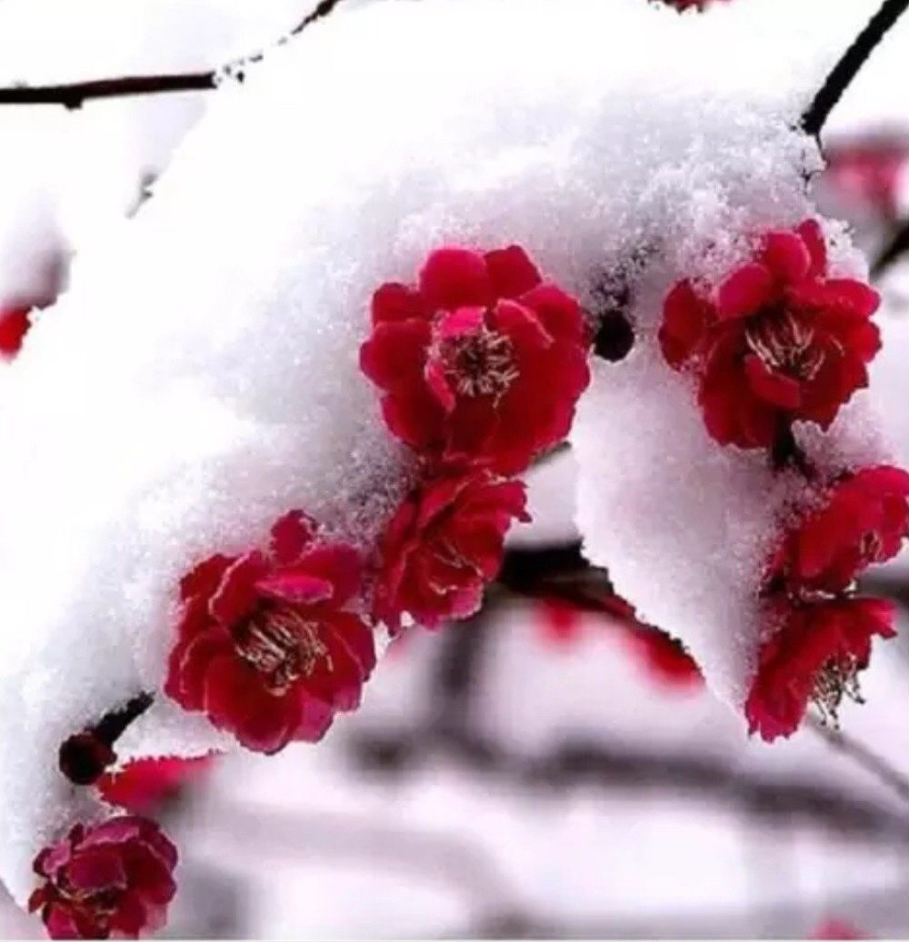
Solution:
[[[768,618],[745,712],[768,741],[789,736],[813,702],[836,721],[844,696],[860,699],[857,674],[874,636],[894,634],[889,602],[859,597],[864,569],[893,558],[909,535],[909,474],[866,468],[837,481],[822,506],[785,534],[766,578]]]

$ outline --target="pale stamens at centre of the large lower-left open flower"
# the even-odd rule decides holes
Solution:
[[[289,606],[268,606],[244,625],[234,639],[240,658],[265,679],[275,695],[301,677],[311,676],[320,660],[331,667],[328,648],[319,638],[319,623]]]

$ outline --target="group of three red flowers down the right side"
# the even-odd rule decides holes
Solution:
[[[763,581],[765,640],[745,713],[768,741],[793,733],[809,703],[835,723],[843,697],[860,698],[872,638],[893,634],[889,604],[858,596],[854,583],[895,556],[909,532],[909,475],[873,467],[822,487],[793,429],[826,430],[868,385],[878,303],[867,284],[831,275],[813,219],[764,235],[719,284],[682,281],[664,302],[663,356],[693,376],[710,435],[769,449],[772,466],[791,464],[814,494],[805,498],[811,510],[786,524]]]

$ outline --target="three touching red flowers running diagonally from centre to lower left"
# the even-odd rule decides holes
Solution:
[[[435,627],[479,608],[527,519],[505,475],[567,433],[587,384],[580,307],[517,247],[433,252],[419,287],[382,286],[372,316],[363,369],[421,469],[375,558],[290,512],[267,549],[212,556],[180,583],[164,690],[256,752],[321,739],[359,705],[373,622]]]

